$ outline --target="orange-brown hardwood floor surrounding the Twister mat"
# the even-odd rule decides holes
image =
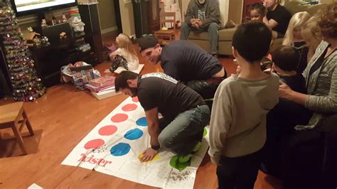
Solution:
[[[113,39],[113,35],[103,36],[105,44],[111,44]],[[139,58],[145,64],[141,74],[162,71],[160,65],[152,65]],[[228,72],[235,71],[232,59],[219,59]],[[109,63],[101,63],[96,68],[103,73],[109,68]],[[97,100],[89,91],[75,92],[73,85],[64,84],[48,88],[46,95],[36,102],[25,102],[24,107],[35,136],[28,136],[27,129],[23,129],[28,155],[21,156],[12,131],[2,130],[0,188],[27,188],[33,183],[43,188],[151,188],[85,168],[60,164],[126,98],[125,95],[118,95]],[[1,99],[0,105],[9,102],[13,100]],[[198,168],[194,188],[217,188],[215,169],[206,155]],[[278,185],[274,178],[259,173],[255,188],[279,188]]]

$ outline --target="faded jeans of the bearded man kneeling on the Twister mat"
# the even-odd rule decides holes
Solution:
[[[159,144],[179,156],[186,156],[203,139],[203,129],[209,121],[210,109],[207,105],[186,110],[173,119],[163,117],[159,119]]]

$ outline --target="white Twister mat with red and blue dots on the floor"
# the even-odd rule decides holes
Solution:
[[[62,164],[159,188],[193,188],[197,168],[208,149],[208,128],[191,165],[178,168],[173,168],[175,154],[171,151],[160,151],[154,160],[141,163],[139,156],[150,146],[149,141],[144,109],[137,97],[129,97],[97,124]]]

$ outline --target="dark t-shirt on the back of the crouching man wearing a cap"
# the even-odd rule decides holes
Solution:
[[[217,58],[188,41],[173,41],[161,52],[161,68],[167,75],[188,82],[208,80],[223,69]]]

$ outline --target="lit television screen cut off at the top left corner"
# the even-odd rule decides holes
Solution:
[[[51,11],[77,5],[76,0],[12,0],[11,3],[19,15],[34,13],[38,10]]]

